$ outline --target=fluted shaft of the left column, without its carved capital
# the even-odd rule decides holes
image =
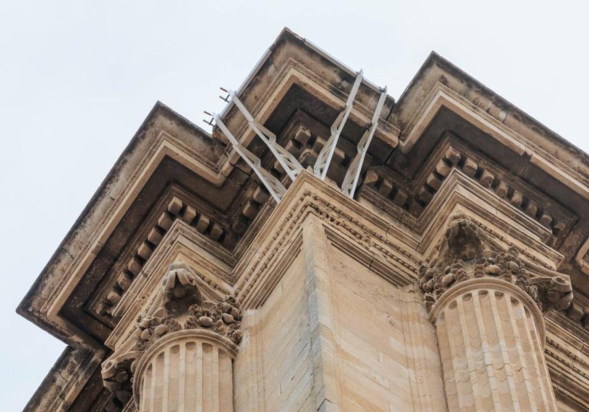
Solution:
[[[140,412],[233,411],[237,346],[204,329],[165,335],[141,357],[133,393]]]

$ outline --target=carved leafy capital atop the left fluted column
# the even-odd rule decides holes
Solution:
[[[139,315],[135,331],[123,354],[113,354],[102,364],[104,386],[114,394],[109,411],[121,410],[133,396],[133,374],[141,356],[166,334],[203,329],[239,344],[241,311],[234,297],[213,303],[205,301],[196,277],[184,263],[174,263],[162,282],[160,293],[145,313]]]

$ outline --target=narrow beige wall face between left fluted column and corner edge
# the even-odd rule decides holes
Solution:
[[[299,254],[264,304],[244,318],[235,409],[312,410],[309,315]]]

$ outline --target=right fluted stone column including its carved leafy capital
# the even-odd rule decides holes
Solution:
[[[438,334],[448,410],[556,411],[542,311],[564,309],[567,278],[502,249],[456,215],[420,285]],[[543,271],[543,274],[538,274]]]

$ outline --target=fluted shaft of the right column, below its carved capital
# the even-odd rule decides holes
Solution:
[[[556,411],[544,359],[544,319],[518,286],[475,278],[432,307],[452,411]]]

